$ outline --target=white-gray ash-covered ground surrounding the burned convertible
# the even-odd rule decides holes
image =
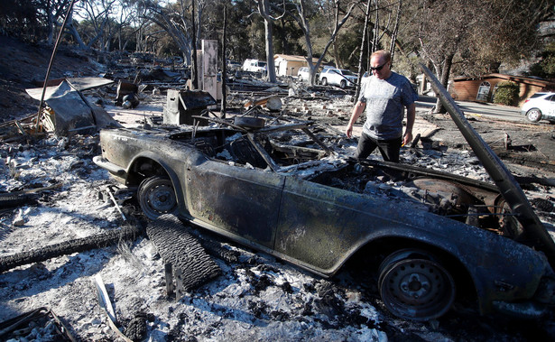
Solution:
[[[162,104],[163,97],[144,95],[134,111],[120,111],[114,106],[106,109],[125,125],[136,125],[145,116],[145,108],[154,108],[149,112],[152,115],[156,108],[162,110]],[[296,116],[310,116],[333,125],[338,134],[347,123],[352,106],[346,97],[316,102],[291,98],[284,104],[285,108],[304,108]],[[293,110],[291,113],[295,114]],[[27,114],[22,112],[20,117]],[[489,180],[462,137],[453,134],[449,119],[430,119],[424,111],[418,116],[417,129],[422,135],[436,131],[431,135],[436,143],[434,148],[419,145],[418,153],[403,149],[402,162]],[[487,127],[484,129],[489,132],[495,130],[485,119],[475,124]],[[548,125],[526,125],[530,128],[525,132],[523,125],[514,126],[513,131],[513,124],[501,125],[499,131],[508,131],[516,145],[540,134],[549,145]],[[492,144],[502,136],[489,137],[485,133],[486,141]],[[523,139],[522,143],[519,139]],[[352,153],[356,141],[343,139],[341,145],[345,153]],[[522,157],[517,161],[525,159],[528,165],[511,159],[509,169],[522,177],[553,180],[549,167],[538,169],[544,162],[530,162],[534,160],[530,153],[536,154],[535,160],[553,160],[537,151],[520,155],[520,151],[513,151],[513,157]],[[92,162],[99,153],[97,134],[2,144],[1,191],[58,187],[37,192],[19,208],[0,209],[0,256],[147,224],[129,191]],[[379,158],[377,154],[373,157]],[[541,199],[538,213],[553,234],[554,190],[537,183],[523,188],[529,199]],[[102,196],[106,189],[119,199],[125,216],[134,219],[124,221],[114,204]],[[98,304],[93,281],[100,275],[113,302],[119,328],[129,334],[143,328],[145,340],[151,341],[524,341],[555,337],[552,315],[539,321],[480,317],[473,303],[457,303],[447,315],[427,323],[396,319],[384,309],[375,286],[376,275],[364,265],[349,263],[334,278],[326,280],[240,245],[224,242],[224,247],[236,252],[237,260],[215,259],[222,274],[180,300],[168,298],[162,259],[146,236],[20,266],[0,274],[0,321],[48,307],[80,340],[123,340],[108,326],[106,314]],[[49,334],[43,329],[29,329],[25,338],[57,340]]]

